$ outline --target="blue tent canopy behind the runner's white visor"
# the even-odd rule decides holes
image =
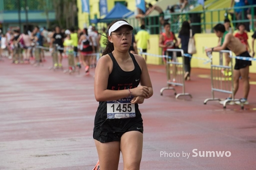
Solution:
[[[116,5],[111,9],[105,18],[98,20],[98,23],[107,23],[116,19],[130,17],[132,15],[134,15],[134,12],[130,11],[121,3],[116,3]]]

